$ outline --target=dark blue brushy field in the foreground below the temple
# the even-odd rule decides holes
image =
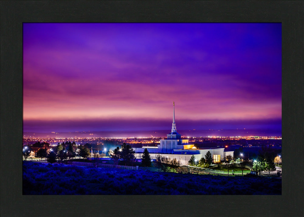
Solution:
[[[23,161],[23,195],[281,195],[282,179],[86,168]]]

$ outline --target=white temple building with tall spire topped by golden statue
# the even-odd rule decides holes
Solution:
[[[213,162],[219,163],[227,155],[233,156],[233,151],[224,151],[225,148],[196,148],[193,144],[188,144],[188,139],[182,139],[181,134],[176,131],[175,125],[175,108],[173,102],[173,122],[171,133],[167,134],[166,139],[161,139],[157,147],[140,147],[133,148],[136,152],[136,159],[140,159],[145,148],[149,151],[151,159],[155,159],[155,155],[161,154],[168,158],[176,158],[181,161],[182,165],[188,165],[191,156],[194,155],[198,161],[205,157],[205,154],[210,151]]]

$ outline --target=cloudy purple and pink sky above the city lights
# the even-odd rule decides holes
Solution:
[[[24,23],[24,131],[170,131],[173,101],[177,129],[280,128],[281,39],[281,23]]]

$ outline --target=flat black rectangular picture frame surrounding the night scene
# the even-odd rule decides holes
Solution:
[[[282,22],[282,195],[22,195],[22,22]],[[1,216],[303,216],[303,1],[1,1]]]

